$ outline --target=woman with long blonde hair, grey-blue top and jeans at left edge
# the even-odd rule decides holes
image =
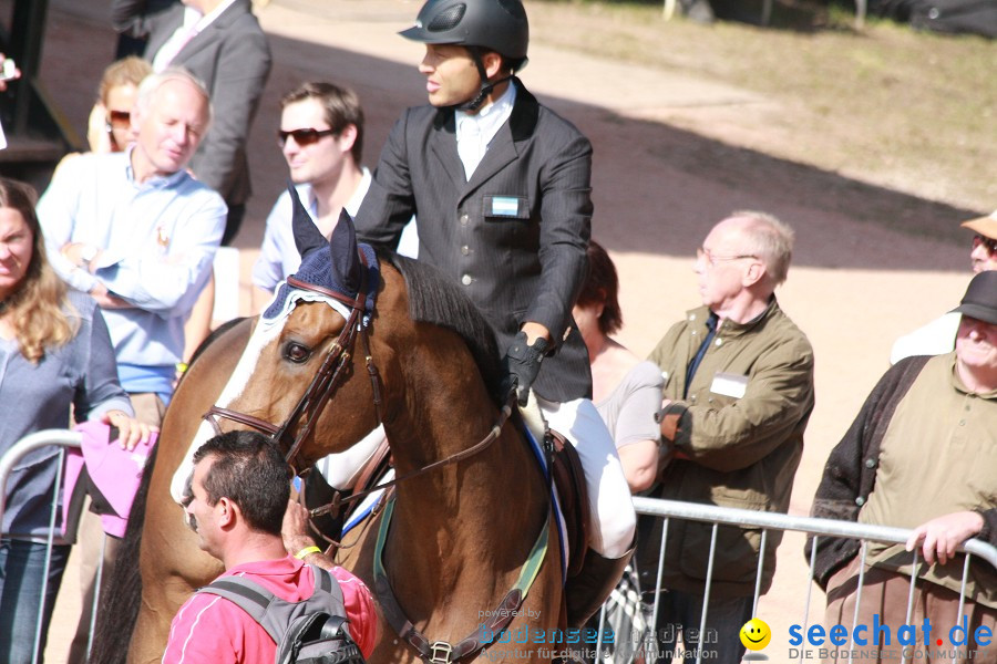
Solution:
[[[131,417],[100,310],[89,295],[68,293],[49,267],[33,204],[29,187],[0,178],[0,455],[27,434],[65,428],[71,406],[78,422],[100,417],[121,430],[123,446],[134,447],[150,428]],[[58,454],[54,447],[32,452],[8,478],[0,662],[32,661]],[[39,653],[68,558],[69,546],[53,548]]]

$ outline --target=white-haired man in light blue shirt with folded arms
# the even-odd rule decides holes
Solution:
[[[208,95],[196,79],[182,70],[147,76],[132,124],[137,136],[127,151],[81,155],[59,168],[38,216],[52,267],[101,305],[135,416],[158,426],[183,359],[184,321],[210,276],[226,208],[187,172],[210,124]],[[84,610],[74,642],[83,647],[100,529],[85,510]],[[107,538],[104,578],[117,543]],[[74,649],[70,661],[82,658]]]

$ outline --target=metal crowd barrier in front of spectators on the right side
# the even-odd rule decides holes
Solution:
[[[709,591],[711,588],[712,575],[713,575],[713,560],[716,557],[716,547],[717,547],[717,530],[721,525],[728,526],[744,526],[749,528],[761,528],[761,548],[758,556],[758,571],[756,574],[754,582],[754,596],[752,601],[752,615],[758,615],[758,602],[759,596],[761,594],[761,580],[763,572],[763,560],[765,552],[765,541],[769,530],[782,530],[782,531],[795,531],[802,532],[806,535],[812,535],[814,537],[814,546],[810,557],[810,575],[808,578],[806,583],[806,598],[803,610],[803,625],[802,631],[806,633],[809,624],[808,618],[810,614],[810,603],[811,603],[811,594],[813,592],[813,579],[814,579],[814,564],[816,557],[816,543],[818,538],[820,537],[834,537],[834,538],[853,538],[857,539],[862,542],[861,547],[861,558],[860,558],[860,577],[859,577],[859,589],[856,596],[856,605],[855,605],[855,618],[854,621],[857,621],[859,616],[859,608],[862,601],[862,580],[864,577],[864,568],[865,568],[865,554],[866,554],[866,544],[867,542],[884,542],[884,543],[905,543],[907,538],[911,536],[913,530],[905,528],[892,528],[886,526],[871,526],[864,523],[856,523],[854,521],[837,521],[831,519],[816,519],[812,517],[795,517],[790,515],[782,513],[773,513],[773,512],[762,512],[762,511],[753,511],[747,509],[736,509],[728,507],[717,507],[712,505],[700,505],[692,502],[681,502],[677,500],[660,500],[654,498],[644,498],[639,496],[634,497],[634,508],[636,509],[638,515],[648,515],[661,517],[665,519],[664,527],[661,529],[661,541],[660,541],[660,551],[658,557],[658,570],[657,577],[655,581],[655,588],[661,588],[661,579],[664,573],[664,560],[665,560],[665,544],[668,539],[668,525],[670,519],[680,519],[680,520],[691,520],[691,521],[705,521],[712,523],[712,533],[710,539],[710,556],[709,561],[707,563],[707,577],[705,581],[706,585],[706,598],[703,601],[702,614],[700,616],[699,623],[699,634],[700,641],[702,641],[703,636],[707,634],[707,615],[709,611]],[[640,543],[638,543],[638,547]],[[966,541],[962,547],[958,548],[958,551],[967,553],[965,558],[965,563],[963,566],[963,581],[962,589],[959,591],[959,608],[958,615],[963,615],[963,610],[965,608],[965,599],[966,599],[966,577],[969,573],[969,559],[972,557],[977,557],[987,561],[993,568],[997,569],[997,548],[980,541],[970,539]],[[911,623],[911,615],[914,602],[914,585],[917,579],[917,572],[919,568],[918,563],[918,552],[915,551],[912,553],[913,564],[912,564],[912,575],[911,575],[911,587],[907,598],[907,624]],[[611,601],[611,600],[610,600]],[[651,608],[650,620],[648,621],[649,629],[652,633],[657,634],[657,622],[658,622],[658,610],[660,602],[660,592],[655,592],[655,602]],[[606,622],[606,612],[608,608],[608,603],[603,606],[603,610],[599,613],[599,626],[598,626],[598,642],[596,644],[596,653],[599,661],[605,662],[600,653],[604,653],[603,650],[603,635],[604,635],[604,626]],[[855,624],[852,625],[852,634],[854,634]],[[627,635],[629,637],[629,635]],[[656,641],[656,639],[651,639],[649,641]],[[654,645],[654,644],[651,644]],[[994,645],[993,647],[997,647]],[[696,664],[701,664],[702,662],[702,652],[703,649],[699,647],[696,654]],[[960,654],[956,651],[956,654],[953,656],[953,662],[958,661]],[[749,661],[750,655],[746,656],[744,661]],[[761,658],[761,657],[759,657]],[[688,661],[688,660],[683,660]],[[800,658],[799,662],[803,661],[803,649],[800,649]],[[903,657],[900,660],[901,664],[906,664],[906,652],[904,652]],[[617,662],[617,664],[620,664]]]

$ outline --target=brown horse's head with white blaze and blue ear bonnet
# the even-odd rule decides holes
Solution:
[[[260,317],[174,474],[171,494],[177,502],[189,492],[194,452],[217,433],[263,430],[301,469],[378,424],[376,383],[363,364],[380,283],[377,258],[370,247],[357,245],[349,215],[342,212],[327,241],[290,191],[301,267]]]

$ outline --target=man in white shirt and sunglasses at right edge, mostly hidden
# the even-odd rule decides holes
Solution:
[[[969,266],[974,274],[997,270],[997,210],[986,217],[962,224],[974,234]],[[931,323],[897,339],[890,352],[890,364],[913,355],[941,355],[955,349],[956,331],[962,314],[949,311]]]

